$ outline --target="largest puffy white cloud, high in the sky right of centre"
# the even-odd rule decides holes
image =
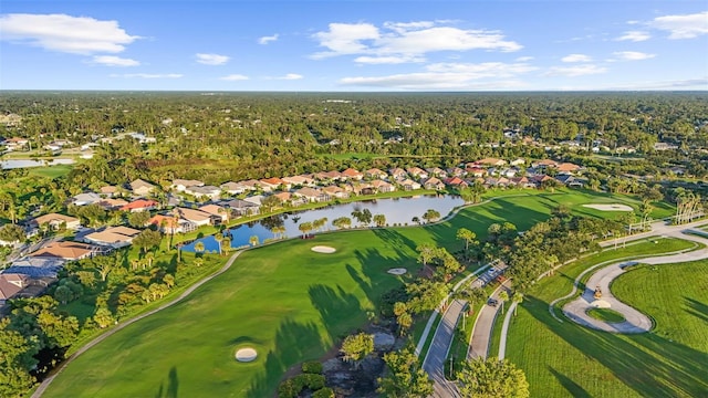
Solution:
[[[449,21],[330,23],[329,30],[313,35],[327,51],[313,54],[319,60],[339,55],[362,55],[358,63],[420,62],[438,51],[488,50],[512,52],[521,45],[498,31],[465,30],[440,25]],[[406,61],[408,60],[408,61]]]

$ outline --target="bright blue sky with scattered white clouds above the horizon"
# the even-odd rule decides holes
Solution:
[[[0,88],[708,90],[708,2],[3,0]]]

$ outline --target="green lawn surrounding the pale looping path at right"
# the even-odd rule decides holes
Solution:
[[[618,297],[656,320],[657,328],[653,333],[614,335],[568,320],[559,323],[549,313],[549,302],[568,294],[572,281],[594,263],[690,247],[686,241],[658,242],[647,240],[583,259],[542,280],[527,294],[519,315],[511,321],[507,358],[525,371],[531,396],[697,397],[705,394],[708,384],[702,375],[708,363],[708,327],[702,314],[708,291],[705,283],[700,290],[700,279],[685,275],[705,275],[707,263],[696,265],[698,269],[691,272],[687,266],[667,265],[675,274],[659,277],[656,272],[657,281],[671,281],[664,285],[647,280],[643,274],[646,271],[629,272],[613,284]],[[694,318],[688,320],[690,316]],[[679,337],[684,322],[689,322],[694,332]]]

